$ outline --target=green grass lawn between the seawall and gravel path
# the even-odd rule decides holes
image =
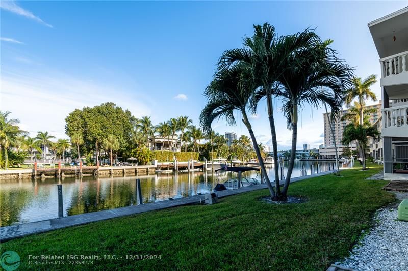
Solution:
[[[394,201],[384,181],[365,180],[381,170],[344,170],[294,183],[300,204],[259,200],[268,190],[226,197],[216,205],[192,205],[32,235],[2,244],[20,255],[116,255],[93,265],[38,269],[272,269],[325,270],[348,255],[373,212]],[[161,260],[126,260],[161,255]],[[123,257],[123,258],[120,258]],[[67,261],[66,261],[67,262]],[[34,266],[31,266],[34,267]]]

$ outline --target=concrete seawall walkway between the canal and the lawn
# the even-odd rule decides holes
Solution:
[[[299,182],[300,180],[314,178],[332,173],[333,171],[325,171],[314,175],[295,177],[291,179],[291,183]],[[272,182],[272,185],[274,182]],[[255,186],[248,186],[234,190],[224,190],[217,192],[218,198],[224,198],[227,196],[237,195],[249,191],[256,191],[267,188],[266,184],[260,184]],[[145,213],[152,210],[162,210],[171,207],[198,204],[204,200],[205,194],[195,195],[185,198],[177,198],[173,200],[164,200],[152,203],[145,203],[142,205],[134,205],[127,207],[120,207],[110,210],[101,210],[98,212],[91,212],[73,216],[67,216],[63,218],[54,218],[36,222],[29,222],[24,224],[17,224],[11,226],[0,227],[0,241],[5,242],[18,237],[23,237],[31,234],[42,233],[57,229],[63,229],[72,226],[79,226],[96,221],[103,221],[112,218],[118,218],[123,216],[131,216],[135,214]]]

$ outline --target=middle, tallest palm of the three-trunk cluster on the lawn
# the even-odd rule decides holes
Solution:
[[[274,157],[276,194],[280,195],[279,168],[277,156],[277,138],[275,121],[273,116],[272,98],[276,96],[276,87],[279,84],[278,77],[288,69],[286,59],[293,53],[302,50],[314,41],[316,35],[313,32],[303,32],[297,37],[297,43],[288,43],[285,39],[276,38],[275,28],[269,23],[263,26],[254,25],[252,37],[243,40],[244,48],[227,50],[220,59],[219,67],[228,68],[236,63],[244,65],[252,75],[255,83],[254,91],[261,88],[252,99],[251,107],[256,111],[260,99],[265,98],[268,109],[269,126],[272,137]]]

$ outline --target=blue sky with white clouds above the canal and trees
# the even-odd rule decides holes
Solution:
[[[0,110],[11,111],[35,135],[64,135],[75,108],[115,102],[155,124],[190,116],[198,125],[215,64],[226,49],[241,47],[253,24],[269,22],[279,35],[316,28],[357,76],[379,74],[367,23],[408,6],[399,2],[81,2],[2,1]],[[380,97],[377,83],[373,90]],[[369,102],[370,103],[370,102]],[[291,132],[275,104],[279,149]],[[305,107],[298,148],[323,143],[323,110]],[[239,117],[239,115],[237,115]],[[252,126],[268,144],[266,106]],[[216,132],[247,134],[241,123],[221,120]]]

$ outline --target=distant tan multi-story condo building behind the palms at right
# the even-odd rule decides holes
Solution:
[[[375,108],[377,111],[375,113],[370,114],[370,123],[373,125],[381,115],[381,101],[379,104],[375,105],[368,105],[366,106],[367,109]],[[344,114],[346,114],[348,110],[344,110],[339,119],[336,119],[334,122],[330,121],[330,113],[328,115],[326,113],[323,114],[324,119],[324,145],[326,147],[334,146],[333,136],[331,135],[331,127],[333,127],[333,131],[335,133],[336,144],[337,146],[342,146],[341,140],[343,138],[344,127],[350,123],[350,121],[342,121],[341,118]]]

